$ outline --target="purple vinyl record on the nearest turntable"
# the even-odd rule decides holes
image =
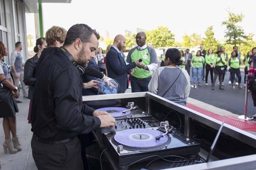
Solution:
[[[159,149],[170,143],[169,135],[165,135],[159,141],[155,139],[162,134],[164,133],[153,129],[127,129],[115,134],[112,141],[130,150]]]

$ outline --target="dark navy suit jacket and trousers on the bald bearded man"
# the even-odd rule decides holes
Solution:
[[[123,56],[113,47],[107,52],[106,67],[108,77],[117,80],[119,83],[119,93],[124,93],[127,87],[128,71],[136,67],[135,62],[125,64]]]

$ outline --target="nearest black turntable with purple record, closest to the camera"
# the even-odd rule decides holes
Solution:
[[[167,127],[166,122],[161,123]],[[161,127],[149,127],[108,132],[103,134],[103,140],[119,166],[153,155],[184,156],[199,153],[200,144],[196,141],[186,138],[183,133],[170,130],[169,127],[165,132],[160,129]]]

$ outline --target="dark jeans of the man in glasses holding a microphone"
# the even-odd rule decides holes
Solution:
[[[131,92],[148,92],[148,84],[152,76],[140,79],[131,75]]]

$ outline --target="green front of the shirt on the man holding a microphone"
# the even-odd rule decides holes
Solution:
[[[143,50],[138,50],[137,48],[131,53],[131,61],[143,60],[144,65],[150,64],[150,54],[147,48]],[[136,78],[146,78],[152,74],[152,71],[146,71],[143,68],[135,67],[133,76]]]

